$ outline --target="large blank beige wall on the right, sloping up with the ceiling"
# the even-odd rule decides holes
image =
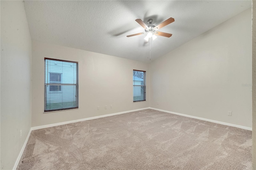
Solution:
[[[150,107],[252,127],[251,18],[248,9],[153,61]]]

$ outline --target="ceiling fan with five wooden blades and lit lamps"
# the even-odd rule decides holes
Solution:
[[[136,19],[135,21],[138,22],[145,29],[145,32],[132,34],[132,35],[129,35],[126,37],[138,36],[140,34],[147,34],[147,36],[144,39],[146,41],[148,41],[151,37],[153,40],[156,39],[157,38],[156,35],[164,36],[164,37],[168,37],[168,38],[170,38],[172,36],[172,34],[165,33],[165,32],[159,32],[157,30],[174,22],[174,18],[169,18],[168,20],[165,20],[164,22],[162,22],[161,24],[158,24],[157,26],[152,25],[152,21],[153,21],[152,19],[148,20],[148,24],[149,24],[148,26],[141,19]]]

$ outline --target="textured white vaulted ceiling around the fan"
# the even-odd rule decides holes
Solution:
[[[154,25],[172,17],[151,43],[151,61],[251,7],[250,0],[212,1],[25,1],[32,40],[150,62],[149,43],[135,21]],[[232,29],[232,28],[230,28]]]

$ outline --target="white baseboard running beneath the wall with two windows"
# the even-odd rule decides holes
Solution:
[[[67,121],[67,122],[54,123],[54,124],[50,124],[50,125],[43,125],[43,126],[38,126],[38,127],[32,127],[31,129],[32,129],[32,130],[37,130],[37,129],[41,129],[41,128],[55,127],[55,126],[59,126],[59,125],[66,125],[66,124],[69,124],[69,123],[76,123],[76,122],[81,122],[81,121],[88,121],[88,120],[92,120],[92,119],[98,119],[98,118],[102,118],[102,117],[120,115],[120,114],[124,114],[124,113],[129,113],[129,112],[134,112],[134,111],[140,111],[140,110],[145,110],[145,109],[149,109],[149,107],[142,108],[142,109],[135,109],[135,110],[131,110],[131,111],[124,111],[124,112],[112,113],[112,114],[108,114],[108,115],[101,115],[101,116],[96,116],[96,117],[89,117],[89,118],[85,118],[85,119],[78,119],[78,120],[74,120],[74,121]]]

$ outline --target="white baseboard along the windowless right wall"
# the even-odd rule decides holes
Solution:
[[[180,115],[180,116],[185,116],[185,117],[191,117],[191,118],[194,118],[194,119],[200,119],[200,120],[203,120],[203,121],[218,123],[218,124],[227,125],[227,126],[231,126],[231,127],[237,127],[237,128],[242,128],[242,129],[246,129],[246,130],[252,130],[252,128],[250,128],[250,127],[244,127],[244,126],[240,126],[240,125],[234,125],[234,124],[231,124],[231,123],[225,123],[225,122],[220,122],[220,121],[214,121],[214,120],[205,119],[205,118],[202,118],[202,117],[190,116],[190,115],[185,115],[185,114],[181,114],[181,113],[175,113],[175,112],[171,112],[171,111],[165,111],[165,110],[162,110],[162,109],[156,109],[156,108],[152,108],[152,107],[149,107],[149,109],[153,109],[153,110],[156,110],[156,111],[162,111],[162,112],[166,112],[166,113],[172,113],[172,114],[175,114],[175,115]]]

